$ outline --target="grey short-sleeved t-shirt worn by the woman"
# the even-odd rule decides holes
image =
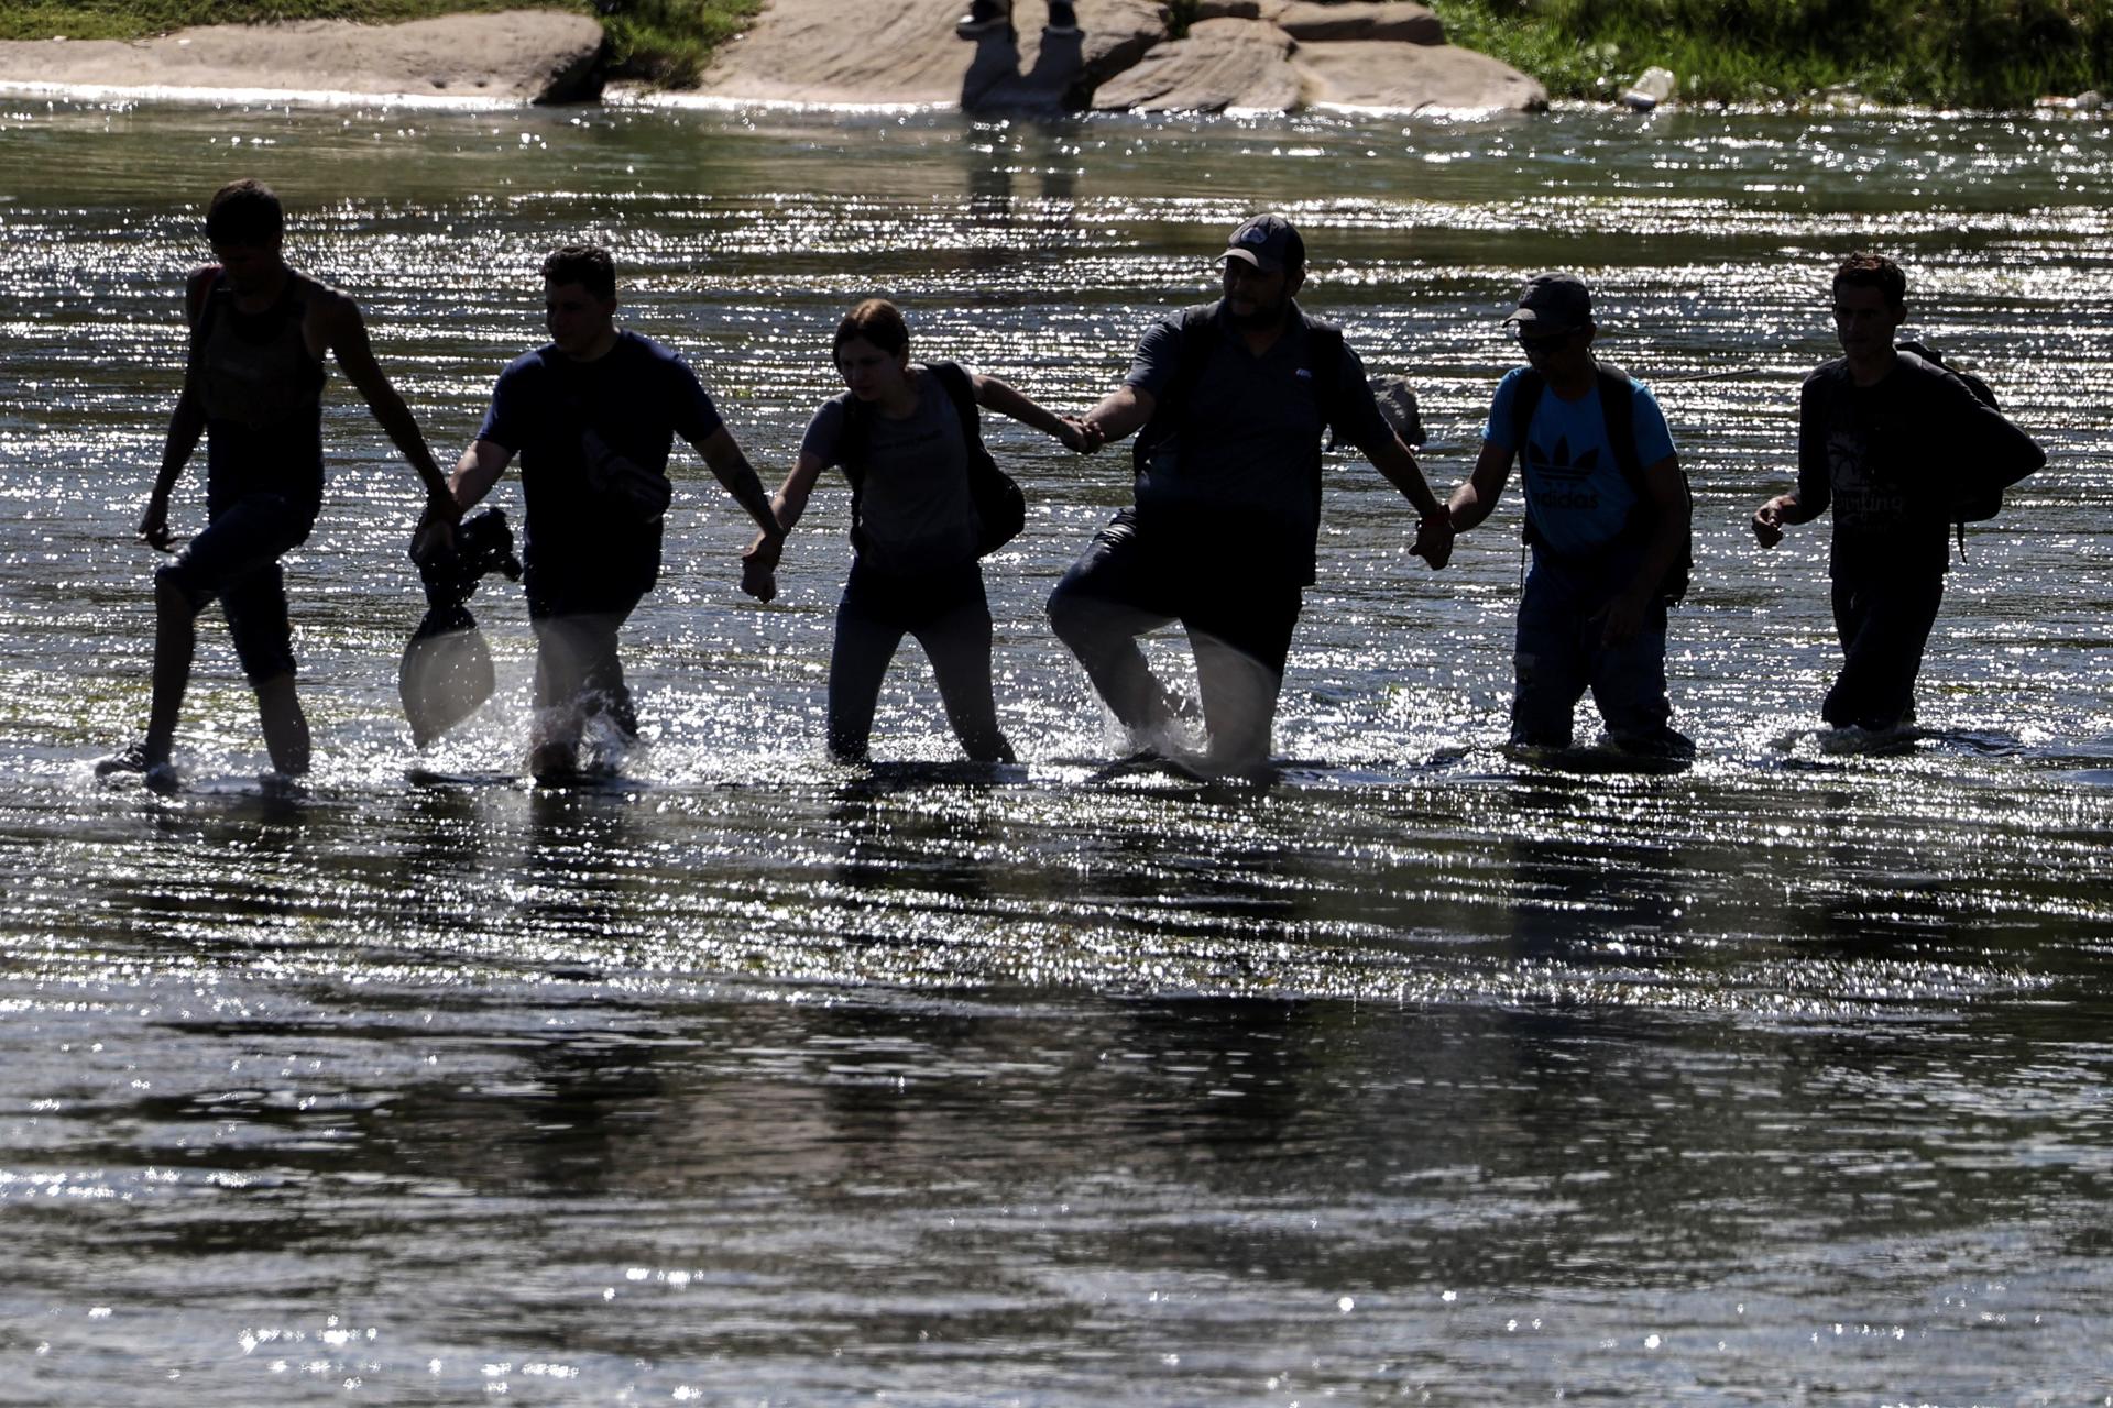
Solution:
[[[976,507],[968,496],[968,441],[961,414],[930,367],[911,363],[917,410],[890,420],[864,407],[858,471],[858,555],[894,576],[925,576],[976,557]],[[807,422],[801,454],[824,469],[843,464],[841,443],[852,393],[822,403]]]

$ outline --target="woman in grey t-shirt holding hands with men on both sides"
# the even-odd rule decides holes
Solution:
[[[847,391],[807,424],[799,460],[771,500],[778,524],[799,521],[824,469],[852,481],[852,576],[837,606],[828,659],[828,751],[864,762],[873,707],[896,646],[915,635],[932,661],[947,722],[976,762],[1012,762],[991,695],[991,606],[976,564],[983,526],[970,496],[968,429],[989,407],[1084,450],[1084,431],[997,380],[953,363],[911,361],[902,312],[868,298],[837,325],[837,372]],[[957,399],[974,397],[964,412]],[[769,572],[744,591],[769,602]]]

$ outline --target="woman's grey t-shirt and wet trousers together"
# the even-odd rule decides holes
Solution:
[[[911,363],[911,384],[917,410],[902,420],[843,393],[816,412],[801,441],[801,454],[858,483],[852,574],[828,659],[828,751],[866,758],[887,665],[913,635],[932,661],[961,751],[1012,762],[991,690],[991,604],[976,564],[964,412],[932,367]],[[845,464],[847,454],[858,462]]]

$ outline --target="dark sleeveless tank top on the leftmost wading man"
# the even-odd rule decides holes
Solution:
[[[302,321],[315,283],[287,274],[262,312],[235,306],[216,274],[190,331],[192,386],[205,401],[205,494],[218,511],[247,494],[277,494],[311,517],[323,500],[323,361]]]

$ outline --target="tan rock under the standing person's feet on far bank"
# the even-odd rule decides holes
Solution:
[[[1084,36],[1046,36],[1042,0],[1016,0],[1018,36],[961,40],[968,0],[771,0],[718,51],[702,91],[765,103],[1080,106],[1173,27],[1156,0],[1078,0]]]

